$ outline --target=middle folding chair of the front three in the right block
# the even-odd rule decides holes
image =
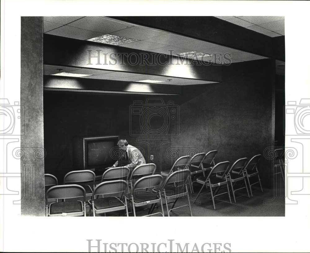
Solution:
[[[250,198],[249,190],[246,185],[246,177],[244,176],[244,169],[246,168],[247,161],[248,159],[246,157],[238,159],[236,162],[232,164],[232,167],[230,167],[230,169],[227,172],[227,181],[230,182],[230,186],[232,187],[232,195],[233,195],[233,199],[235,203],[237,203],[236,197],[235,197],[235,191],[239,191],[241,189],[246,188],[246,192],[248,194],[248,197]],[[239,174],[232,173],[233,170],[239,170]],[[220,177],[219,175],[216,175],[216,176]],[[234,189],[233,186],[239,181],[244,181],[245,186]]]

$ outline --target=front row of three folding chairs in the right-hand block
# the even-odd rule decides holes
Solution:
[[[261,154],[253,156],[249,161],[247,158],[241,158],[241,159],[238,159],[236,162],[234,162],[231,167],[229,167],[230,165],[229,161],[217,163],[210,170],[210,173],[207,176],[197,178],[197,183],[201,184],[202,186],[201,186],[200,191],[197,194],[195,201],[197,201],[198,197],[201,195],[203,188],[206,187],[206,190],[208,190],[208,187],[209,187],[214,209],[215,209],[214,200],[220,200],[220,201],[226,202],[225,200],[215,198],[219,195],[228,194],[229,203],[232,204],[228,182],[230,183],[231,191],[232,191],[235,203],[236,203],[235,192],[238,190],[245,188],[249,198],[250,198],[249,190],[250,190],[251,196],[253,196],[253,193],[252,193],[253,185],[259,184],[261,191],[263,191],[260,177],[259,177],[259,172],[257,169],[257,163],[259,162],[260,158],[261,158]],[[258,181],[254,183],[250,183],[250,178],[255,177],[255,176],[257,176]],[[243,187],[234,189],[235,184],[239,181],[242,181],[244,183],[244,186],[242,184]],[[227,191],[218,194],[222,186],[226,186]],[[213,188],[215,188],[215,190],[213,190]]]

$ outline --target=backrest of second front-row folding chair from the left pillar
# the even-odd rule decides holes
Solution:
[[[108,196],[122,196],[126,194],[128,189],[128,183],[125,180],[112,180],[101,182],[94,189],[92,199],[96,195],[108,195]]]

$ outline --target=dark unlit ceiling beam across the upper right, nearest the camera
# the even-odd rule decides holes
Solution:
[[[274,38],[221,20],[214,16],[113,16],[136,25],[164,30],[240,51],[283,61],[285,55],[274,52]],[[280,36],[284,37],[284,36]]]

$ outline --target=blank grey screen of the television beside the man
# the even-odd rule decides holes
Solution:
[[[115,162],[111,159],[110,150],[115,147],[114,141],[89,141],[87,142],[87,164],[95,167],[98,165],[112,166]]]

